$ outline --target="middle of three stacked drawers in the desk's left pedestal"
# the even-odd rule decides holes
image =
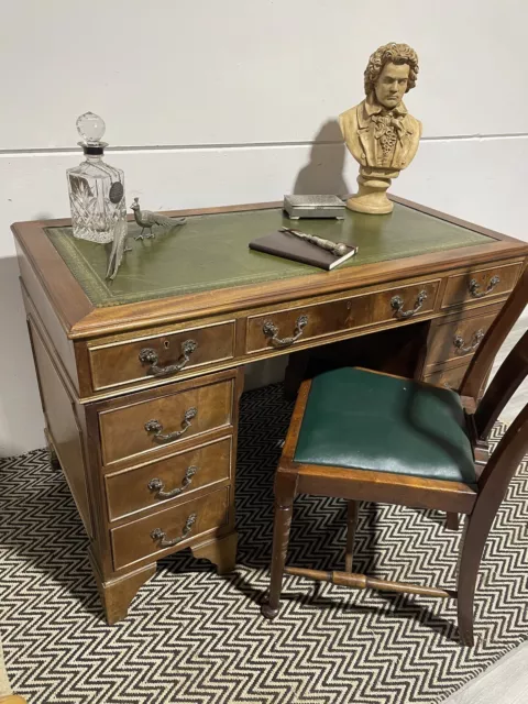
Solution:
[[[208,442],[131,470],[107,474],[110,520],[167,502],[187,501],[196,490],[231,476],[231,438]]]

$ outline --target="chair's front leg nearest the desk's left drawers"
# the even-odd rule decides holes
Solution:
[[[288,552],[289,529],[295,497],[295,484],[290,477],[275,477],[275,520],[273,524],[272,570],[267,602],[261,607],[266,618],[275,618],[279,610],[280,590],[283,586],[284,565]]]

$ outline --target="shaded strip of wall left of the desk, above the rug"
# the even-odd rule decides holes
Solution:
[[[43,448],[44,419],[16,257],[0,258],[0,457]]]

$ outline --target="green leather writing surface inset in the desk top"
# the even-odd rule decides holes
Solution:
[[[130,222],[132,251],[124,255],[116,279],[107,282],[111,244],[77,240],[65,227],[47,228],[46,234],[90,301],[99,307],[321,273],[249,249],[251,240],[282,224],[358,245],[356,256],[334,271],[493,241],[398,204],[386,216],[346,210],[344,220],[289,220],[279,208],[207,213],[190,216],[182,228],[161,231],[152,240],[134,240],[140,230]]]

